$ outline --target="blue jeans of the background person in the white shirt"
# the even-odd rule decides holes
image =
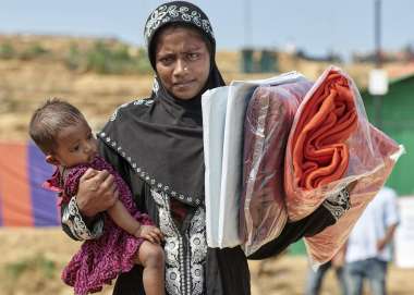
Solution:
[[[349,262],[345,266],[350,295],[362,295],[363,283],[369,282],[373,295],[386,295],[387,262],[377,258]]]

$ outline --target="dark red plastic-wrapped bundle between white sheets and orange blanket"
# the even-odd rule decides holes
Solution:
[[[282,182],[285,145],[297,107],[310,87],[305,78],[260,86],[248,103],[240,207],[246,255],[276,238],[288,220]]]

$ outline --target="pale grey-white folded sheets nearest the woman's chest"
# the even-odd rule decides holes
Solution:
[[[206,168],[206,232],[209,247],[242,244],[240,207],[243,179],[243,133],[252,94],[259,86],[303,79],[295,72],[269,79],[235,81],[202,98]]]

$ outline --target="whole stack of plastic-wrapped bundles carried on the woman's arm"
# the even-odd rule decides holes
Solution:
[[[288,73],[233,82],[207,91],[202,102],[209,247],[242,244],[252,255],[287,222],[324,206],[337,222],[305,236],[313,265],[324,263],[403,151],[368,122],[355,84],[334,66],[314,85]],[[344,189],[351,208],[341,216],[324,201]]]

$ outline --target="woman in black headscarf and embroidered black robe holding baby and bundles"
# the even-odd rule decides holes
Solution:
[[[99,133],[100,153],[165,235],[168,294],[251,294],[242,249],[208,248],[206,243],[200,97],[224,85],[208,17],[192,3],[168,2],[149,15],[144,35],[156,72],[151,96],[118,108]],[[110,207],[117,194],[107,172],[87,171],[76,198],[62,210],[65,232],[76,239],[98,236],[104,223],[98,212]],[[278,254],[333,222],[321,206],[289,223],[281,237],[254,258]],[[114,294],[144,294],[142,269],[121,274]]]

